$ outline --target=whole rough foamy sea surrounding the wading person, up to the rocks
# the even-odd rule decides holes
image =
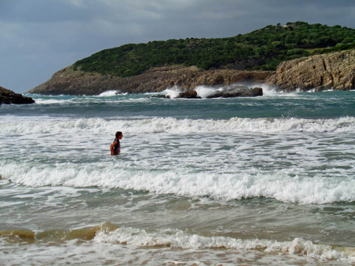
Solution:
[[[355,91],[261,86],[1,105],[0,265],[355,265]]]

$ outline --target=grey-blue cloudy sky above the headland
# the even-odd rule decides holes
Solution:
[[[304,21],[355,28],[355,1],[0,0],[0,86],[25,93],[103,49]]]

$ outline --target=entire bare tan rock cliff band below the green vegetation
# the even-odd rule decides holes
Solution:
[[[45,95],[97,95],[108,90],[128,93],[161,92],[179,86],[193,90],[198,85],[228,86],[238,82],[267,83],[279,90],[349,90],[355,88],[355,50],[303,57],[281,63],[276,71],[232,69],[201,70],[196,67],[165,66],[140,75],[120,78],[74,70],[73,66],[53,74],[29,93]]]

